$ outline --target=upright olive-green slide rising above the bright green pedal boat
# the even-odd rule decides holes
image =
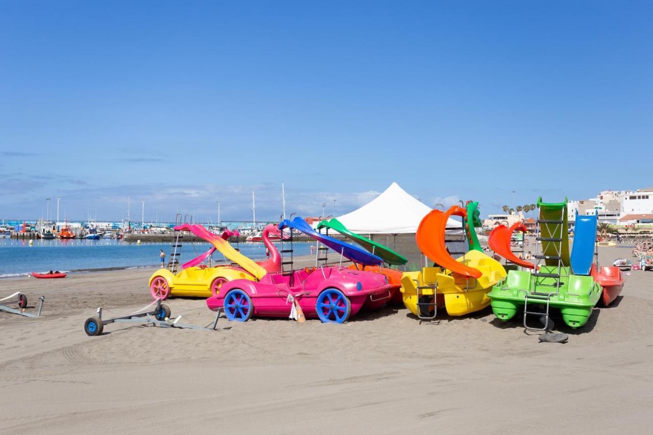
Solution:
[[[539,208],[539,240],[542,253],[547,257],[558,257],[562,266],[569,267],[569,235],[567,234],[567,198],[564,202],[543,202],[537,199]],[[560,249],[560,252],[558,252]],[[545,259],[545,265],[557,266],[557,259]]]

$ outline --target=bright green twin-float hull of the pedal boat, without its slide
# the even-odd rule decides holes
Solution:
[[[542,273],[556,273],[557,266],[542,266]],[[571,328],[576,329],[587,323],[592,314],[592,308],[601,297],[601,286],[592,276],[569,275],[569,268],[560,270],[560,291],[550,297],[550,306],[559,308],[562,319]],[[517,313],[524,312],[524,298],[529,295],[528,304],[547,304],[547,300],[532,299],[532,280],[535,280],[536,293],[554,293],[556,278],[535,277],[528,271],[509,270],[507,276],[498,282],[488,297],[492,299],[492,311],[502,320],[509,320]]]

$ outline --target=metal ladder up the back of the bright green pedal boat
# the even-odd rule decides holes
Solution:
[[[533,268],[533,272],[531,272],[531,288],[528,291],[524,291],[524,329],[526,330],[532,330],[532,331],[537,331],[537,330],[548,330],[549,329],[549,320],[550,320],[550,301],[551,297],[554,295],[558,295],[560,293],[560,278],[562,276],[569,277],[569,272],[567,270],[566,275],[562,275],[562,240],[564,233],[563,231],[567,231],[566,228],[563,227],[564,223],[564,214],[566,213],[566,208],[563,207],[560,209],[560,219],[537,219],[537,232],[535,234],[535,267]],[[540,226],[541,224],[547,225],[547,229],[549,229],[548,225],[555,225],[553,231],[548,231],[549,237],[543,237],[541,236],[541,231],[540,231]],[[542,254],[537,253],[537,242],[542,242]],[[554,244],[553,246],[555,247],[556,253],[558,255],[545,255],[544,254],[544,244]],[[558,262],[558,272],[555,274],[550,274],[550,273],[544,273],[544,272],[538,272],[539,270],[539,263],[542,260],[554,260]],[[550,292],[550,293],[543,293],[540,291],[535,291],[535,285],[539,283],[538,278],[554,278],[556,280],[556,291]],[[537,311],[528,311],[528,300],[546,300],[547,301],[547,309],[545,312],[537,312]],[[537,303],[538,306],[541,306],[541,303]],[[528,315],[539,315],[539,316],[544,316],[545,321],[544,327],[542,328],[534,328],[534,327],[529,327],[526,323],[528,319]]]

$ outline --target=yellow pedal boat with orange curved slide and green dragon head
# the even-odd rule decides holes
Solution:
[[[450,252],[445,232],[450,216],[462,217],[469,251]],[[415,239],[419,249],[435,263],[416,272],[404,272],[401,292],[404,305],[419,319],[434,319],[438,308],[458,316],[483,310],[490,305],[488,292],[505,278],[501,263],[483,253],[475,227],[481,227],[478,202],[465,208],[452,206],[447,212],[432,210],[424,216]],[[452,255],[460,255],[454,259]]]

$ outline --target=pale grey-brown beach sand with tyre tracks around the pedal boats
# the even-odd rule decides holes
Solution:
[[[629,255],[602,248],[601,263]],[[152,270],[0,280],[45,295],[38,319],[0,313],[0,433],[648,433],[653,427],[652,272],[596,308],[567,344],[538,343],[490,308],[421,323],[405,308],[344,325],[220,319],[212,332],[83,325],[98,306],[151,301]],[[208,325],[204,299],[169,300]],[[29,308],[33,310],[35,308]]]

